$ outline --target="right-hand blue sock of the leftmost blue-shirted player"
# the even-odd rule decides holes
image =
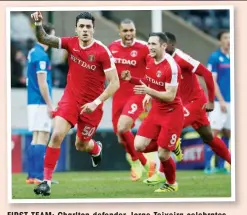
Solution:
[[[35,144],[34,146],[34,159],[35,159],[35,178],[43,180],[44,178],[44,157],[46,145]]]

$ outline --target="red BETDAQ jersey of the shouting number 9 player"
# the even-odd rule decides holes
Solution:
[[[149,54],[144,41],[134,40],[132,46],[126,47],[122,40],[116,40],[109,45],[119,76],[124,70],[129,70],[133,77],[143,78],[146,70],[146,57]],[[128,81],[120,79],[120,88],[114,97],[134,95],[133,87]]]

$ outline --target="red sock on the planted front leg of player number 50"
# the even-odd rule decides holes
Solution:
[[[54,168],[59,159],[60,148],[47,147],[44,161],[44,180],[51,180]]]

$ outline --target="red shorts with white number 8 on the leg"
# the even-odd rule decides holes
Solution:
[[[151,110],[152,111],[152,110]],[[149,114],[142,122],[137,135],[156,140],[158,146],[173,151],[184,124],[183,107],[159,115],[156,119]]]

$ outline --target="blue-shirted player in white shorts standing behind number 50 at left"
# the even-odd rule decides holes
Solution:
[[[50,24],[44,25],[44,29],[47,34],[55,34]],[[28,184],[43,180],[44,156],[52,126],[52,74],[47,50],[48,46],[37,42],[28,53],[28,129],[33,134],[28,149]]]

